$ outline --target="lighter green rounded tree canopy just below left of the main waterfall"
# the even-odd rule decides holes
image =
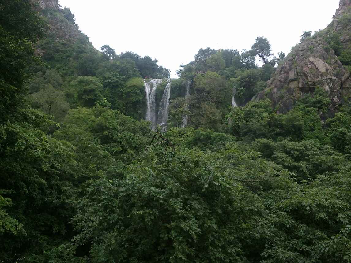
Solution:
[[[100,144],[101,149],[125,162],[141,153],[152,137],[148,122],[135,121],[132,117],[101,106],[70,110],[55,136],[76,145],[81,139],[76,137],[77,132],[88,134],[89,141],[95,141],[94,144]]]

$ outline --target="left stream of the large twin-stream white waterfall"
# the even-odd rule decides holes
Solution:
[[[145,83],[145,93],[146,93],[146,117],[147,121],[151,121],[152,129],[156,127],[156,88],[162,83],[162,79],[153,79]]]

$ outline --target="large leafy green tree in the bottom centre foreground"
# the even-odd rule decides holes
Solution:
[[[261,206],[217,158],[150,150],[121,180],[89,182],[73,219],[77,244],[91,242],[92,262],[245,262],[241,233]]]

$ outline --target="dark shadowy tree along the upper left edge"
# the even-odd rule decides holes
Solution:
[[[0,3],[0,123],[17,113],[27,94],[24,84],[39,62],[34,43],[43,35],[43,25],[32,1]]]

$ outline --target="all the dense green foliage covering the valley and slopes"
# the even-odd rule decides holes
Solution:
[[[287,114],[246,103],[285,56],[267,39],[200,49],[160,134],[141,76],[168,70],[93,49],[68,8],[33,10],[0,4],[0,262],[351,262],[351,109],[321,121],[319,87]],[[72,35],[49,31],[40,62],[42,19]]]

